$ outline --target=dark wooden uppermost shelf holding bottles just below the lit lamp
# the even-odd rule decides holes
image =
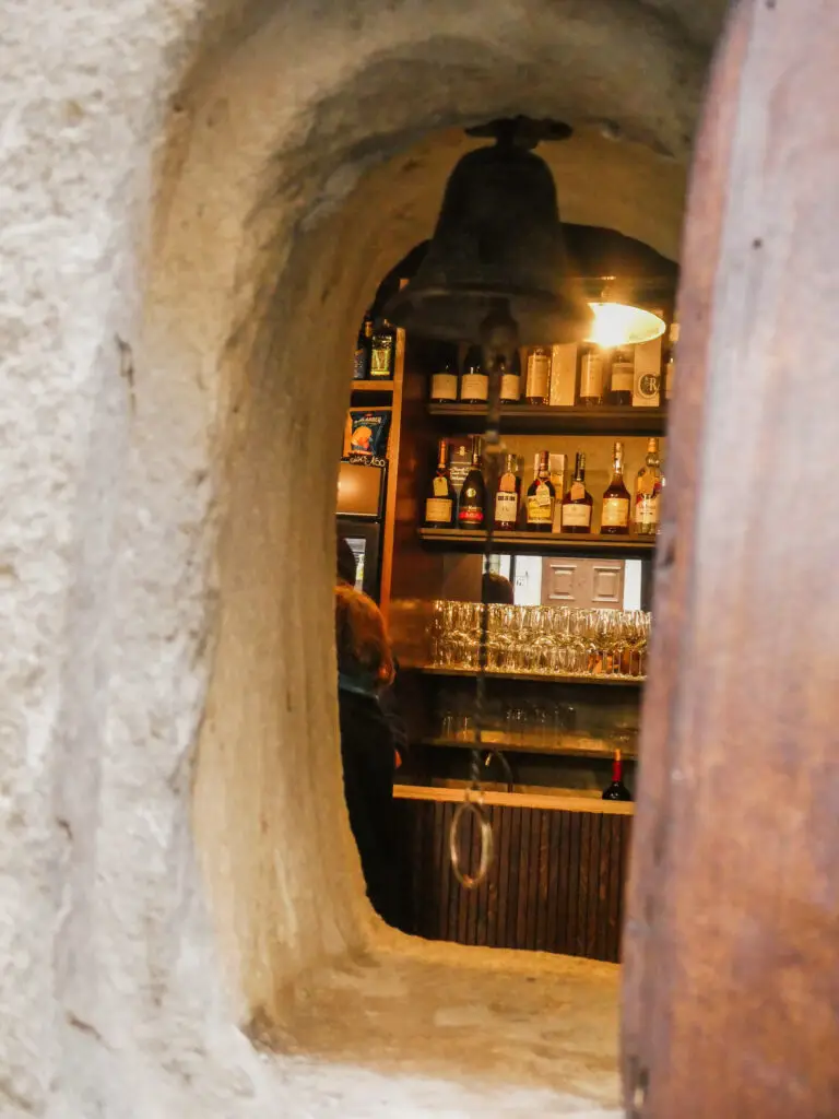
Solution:
[[[487,410],[482,404],[430,404],[441,430],[480,434]],[[604,405],[598,408],[549,404],[509,404],[501,408],[501,431],[510,435],[663,435],[667,408]]]

